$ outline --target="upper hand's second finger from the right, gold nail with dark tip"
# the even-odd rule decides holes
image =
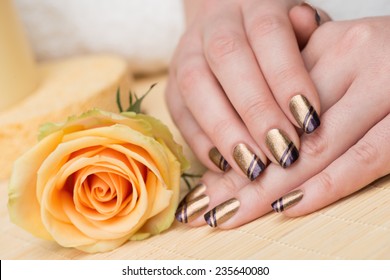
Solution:
[[[240,10],[221,13],[224,17],[213,18],[205,30],[207,62],[261,150],[288,167],[298,158],[299,137],[262,78],[240,24]]]

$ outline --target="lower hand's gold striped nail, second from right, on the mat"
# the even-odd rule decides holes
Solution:
[[[204,219],[209,226],[217,227],[233,217],[239,207],[240,202],[237,199],[232,198],[207,212],[204,215]]]

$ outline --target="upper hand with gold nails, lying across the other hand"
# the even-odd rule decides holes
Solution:
[[[318,14],[289,13],[298,0],[207,0],[190,16],[170,68],[166,91],[173,119],[209,169],[229,166],[250,180],[267,158],[288,167],[298,158],[299,136],[320,124],[316,88],[300,55]],[[298,6],[299,7],[299,6]],[[306,117],[306,120],[305,120]]]

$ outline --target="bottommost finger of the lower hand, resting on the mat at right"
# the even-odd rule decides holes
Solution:
[[[296,217],[321,209],[390,173],[390,115],[356,145],[275,204],[278,211]],[[348,176],[346,176],[348,174]],[[362,176],[365,174],[365,176]]]

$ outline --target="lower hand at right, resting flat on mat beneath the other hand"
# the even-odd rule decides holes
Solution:
[[[300,160],[271,164],[247,184],[235,172],[208,172],[177,218],[191,225],[233,228],[272,207],[288,216],[316,211],[390,172],[390,17],[329,22],[302,56],[317,86],[322,125],[301,138]],[[207,186],[207,187],[205,187]],[[207,210],[206,210],[207,209]],[[183,219],[185,217],[186,219]]]

